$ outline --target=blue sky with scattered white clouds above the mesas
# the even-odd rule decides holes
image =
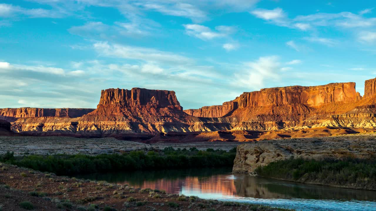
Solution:
[[[375,47],[368,0],[0,0],[0,107],[95,108],[113,87],[174,90],[184,109],[265,87],[363,94]]]

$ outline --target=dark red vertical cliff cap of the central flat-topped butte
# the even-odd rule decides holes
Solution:
[[[174,91],[168,90],[153,90],[143,88],[127,89],[106,89],[102,90],[100,101],[97,106],[115,105],[120,107],[156,107],[183,110],[177,101]]]

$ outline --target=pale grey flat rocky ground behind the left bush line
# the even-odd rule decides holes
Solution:
[[[64,136],[0,136],[0,154],[7,151],[20,154],[89,154],[122,153],[133,150],[162,150],[165,147],[197,149],[223,149],[230,150],[240,143],[238,142],[199,142],[199,143],[155,143],[145,144],[118,140],[115,138],[83,139]]]

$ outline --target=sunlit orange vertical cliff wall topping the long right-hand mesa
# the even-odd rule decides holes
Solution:
[[[329,103],[349,103],[361,100],[355,83],[330,83],[321,86],[287,86],[244,92],[236,99],[223,105],[185,110],[192,116],[219,118],[229,115],[237,108],[304,104],[318,107]]]

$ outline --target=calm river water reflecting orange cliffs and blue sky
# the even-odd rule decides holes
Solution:
[[[132,187],[166,190],[204,199],[258,203],[297,210],[376,211],[376,191],[305,185],[247,174],[231,169],[188,169],[92,174],[81,178],[105,180]]]

